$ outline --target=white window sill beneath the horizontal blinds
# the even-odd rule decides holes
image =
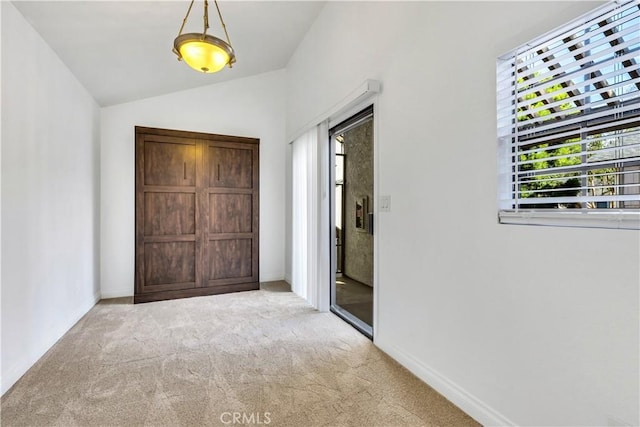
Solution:
[[[640,211],[499,211],[500,224],[640,230]]]

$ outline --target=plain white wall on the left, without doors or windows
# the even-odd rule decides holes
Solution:
[[[99,108],[2,8],[2,393],[99,299]]]

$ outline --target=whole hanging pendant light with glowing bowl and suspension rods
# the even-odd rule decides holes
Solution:
[[[222,29],[227,37],[227,41],[221,40],[210,34],[207,34],[209,29],[209,2],[204,0],[204,30],[200,33],[187,33],[182,34],[184,25],[187,23],[189,13],[193,7],[194,0],[191,0],[187,14],[185,15],[178,37],[173,41],[173,53],[178,56],[178,61],[184,60],[191,68],[202,73],[215,73],[228,65],[229,68],[236,62],[236,54],[231,47],[229,41],[229,34],[227,33],[227,27],[222,20],[222,14],[220,13],[220,7],[218,1],[213,0],[216,9],[218,10],[218,16],[220,17],[220,23]]]

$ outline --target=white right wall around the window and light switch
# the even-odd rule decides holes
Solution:
[[[378,79],[376,344],[479,421],[637,425],[640,235],[497,224],[498,55],[595,2],[329,2],[288,135]]]

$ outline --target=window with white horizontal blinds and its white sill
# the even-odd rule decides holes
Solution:
[[[640,228],[639,29],[611,2],[499,58],[500,222]]]

